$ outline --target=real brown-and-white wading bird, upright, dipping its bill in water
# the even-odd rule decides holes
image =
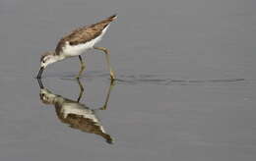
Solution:
[[[80,27],[75,29],[72,33],[64,36],[58,42],[54,52],[46,52],[40,59],[40,71],[38,72],[37,79],[40,79],[43,70],[52,63],[61,61],[65,58],[79,56],[81,63],[81,70],[77,78],[79,78],[86,68],[86,64],[83,61],[81,54],[88,49],[97,49],[105,53],[106,63],[110,72],[111,80],[115,79],[114,72],[109,63],[108,51],[104,47],[96,47],[95,44],[101,40],[107,27],[110,23],[116,19],[116,15],[113,15],[107,19],[102,20],[89,27]]]

